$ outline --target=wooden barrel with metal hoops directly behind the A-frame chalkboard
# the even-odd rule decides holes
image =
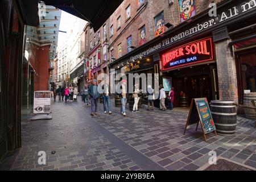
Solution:
[[[219,135],[232,136],[236,133],[237,109],[235,102],[211,101],[210,111]]]

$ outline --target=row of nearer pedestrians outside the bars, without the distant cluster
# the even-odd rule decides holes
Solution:
[[[91,104],[91,114],[92,116],[97,115],[98,113],[98,102],[100,100],[100,93],[99,93],[99,87],[98,87],[98,81],[93,80],[90,86],[85,86],[84,89],[81,90],[81,96],[82,101],[85,102],[85,105],[89,105],[89,101]],[[126,116],[126,102],[128,98],[127,94],[127,80],[121,81],[121,92],[118,93],[120,100],[121,100],[121,114],[123,116]],[[105,114],[112,114],[111,110],[111,102],[110,102],[110,92],[109,92],[109,84],[108,81],[105,81],[102,88],[104,90],[103,93],[103,102],[104,102],[104,113]],[[134,98],[134,105],[133,105],[133,113],[138,112],[138,103],[140,100],[139,93],[141,90],[139,90],[139,85],[135,84],[135,89],[133,93]],[[148,96],[148,108],[147,110],[154,110],[154,100],[155,100],[155,94],[154,89],[152,89],[151,85],[147,86],[147,96]],[[163,85],[160,85],[160,94],[159,94],[159,100],[160,100],[160,110],[166,111],[167,107],[165,105],[165,101],[168,101],[169,109],[173,110],[174,106],[174,88],[171,88],[170,92],[166,94]]]

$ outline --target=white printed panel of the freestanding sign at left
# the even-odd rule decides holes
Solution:
[[[51,92],[36,91],[34,92],[34,114],[51,113]]]

